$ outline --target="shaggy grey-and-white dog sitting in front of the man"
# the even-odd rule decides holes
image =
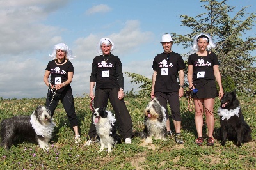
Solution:
[[[157,98],[153,98],[144,110],[144,130],[143,137],[145,143],[152,143],[151,137],[154,139],[166,140],[166,114],[165,109],[159,104]]]

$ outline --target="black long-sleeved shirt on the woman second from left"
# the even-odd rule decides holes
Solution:
[[[92,62],[90,82],[96,82],[95,89],[124,89],[122,63],[118,56],[96,56]]]

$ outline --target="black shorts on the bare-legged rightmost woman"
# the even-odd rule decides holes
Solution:
[[[193,81],[193,86],[198,91],[193,95],[193,98],[215,98],[218,97],[215,80],[199,79]]]

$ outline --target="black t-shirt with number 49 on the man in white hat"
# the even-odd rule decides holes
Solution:
[[[157,72],[154,92],[179,91],[178,72],[185,68],[185,63],[180,54],[175,52],[158,54],[153,61],[152,68]]]

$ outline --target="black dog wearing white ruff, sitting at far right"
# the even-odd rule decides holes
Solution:
[[[218,115],[220,116],[221,125],[221,145],[225,146],[228,139],[236,142],[237,146],[240,147],[241,143],[252,140],[252,130],[244,121],[235,92],[224,93]]]

